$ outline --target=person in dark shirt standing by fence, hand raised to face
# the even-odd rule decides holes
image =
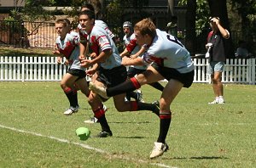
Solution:
[[[210,25],[212,31],[208,34],[206,48],[209,53],[208,73],[211,75],[215,99],[208,104],[224,104],[224,89],[221,82],[226,59],[224,40],[230,38],[230,32],[224,29],[218,17],[212,17]]]

